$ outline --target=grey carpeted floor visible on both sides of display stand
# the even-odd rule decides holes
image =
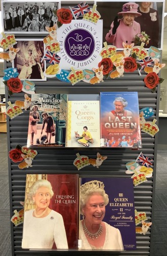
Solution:
[[[0,133],[0,255],[11,256],[10,234],[10,206],[9,206],[9,178],[7,134]],[[166,256],[167,254],[167,151],[157,152],[157,173],[155,189],[155,221],[151,232],[153,239],[153,253],[150,256]]]

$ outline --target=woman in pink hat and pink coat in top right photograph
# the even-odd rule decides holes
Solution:
[[[122,6],[122,11],[118,12],[118,15],[122,18],[118,19],[117,16],[114,18],[105,39],[117,48],[122,48],[122,42],[132,44],[135,36],[141,33],[140,24],[135,21],[141,13],[138,12],[138,4],[127,3]]]

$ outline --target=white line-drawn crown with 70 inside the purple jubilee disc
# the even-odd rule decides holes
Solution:
[[[87,37],[83,39],[81,35],[75,34],[76,37],[70,37],[68,39],[70,55],[71,56],[87,56],[89,55],[92,38]]]

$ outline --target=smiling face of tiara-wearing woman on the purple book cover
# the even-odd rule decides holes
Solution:
[[[105,215],[104,198],[100,194],[93,194],[89,197],[83,208],[87,224],[100,224]]]

